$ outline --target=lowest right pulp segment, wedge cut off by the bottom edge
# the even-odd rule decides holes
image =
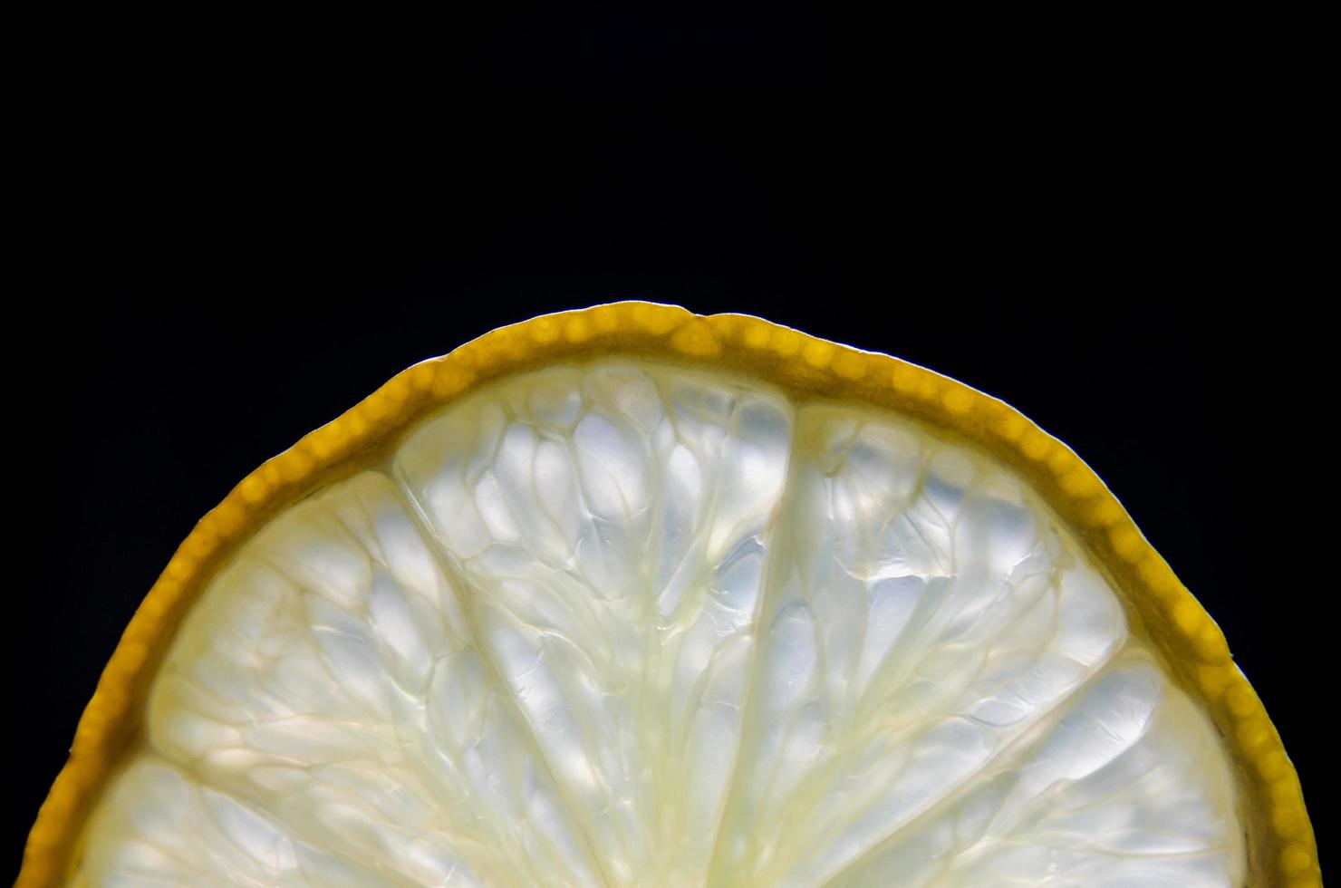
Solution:
[[[1018,754],[869,852],[842,883],[1243,884],[1234,787],[1206,718],[1139,651],[1077,698]]]

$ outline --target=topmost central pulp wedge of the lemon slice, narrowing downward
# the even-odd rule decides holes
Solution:
[[[557,369],[396,456],[618,884],[707,869],[790,419],[776,394],[696,374]]]

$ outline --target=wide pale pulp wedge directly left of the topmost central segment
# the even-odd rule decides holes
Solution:
[[[410,507],[367,472],[211,584],[154,684],[149,746],[392,884],[590,884],[489,668]],[[271,863],[266,881],[307,884]]]

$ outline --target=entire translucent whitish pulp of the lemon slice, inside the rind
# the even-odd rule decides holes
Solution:
[[[194,813],[148,829],[105,801],[83,876],[911,880],[967,817],[980,837],[956,829],[955,865],[916,884],[975,884],[994,846],[1058,885],[1238,884],[1224,753],[1149,663],[1075,541],[967,448],[692,370],[551,368],[447,408],[235,555],[105,797]],[[1144,696],[1104,693],[1128,675]],[[1120,718],[1137,698],[1148,715]],[[1066,770],[1085,718],[1130,730]],[[1189,750],[1200,767],[1134,801],[1106,777]],[[1029,814],[1057,781],[1098,813]],[[1105,853],[1058,838],[1077,824]]]

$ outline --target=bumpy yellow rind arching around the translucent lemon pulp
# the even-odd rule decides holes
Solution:
[[[1070,448],[1007,404],[907,361],[760,318],[700,317],[648,302],[543,315],[487,333],[404,370],[243,479],[181,543],[122,634],[28,834],[16,885],[59,884],[78,863],[83,822],[141,728],[141,704],[177,625],[220,562],[268,516],[375,461],[426,410],[510,373],[606,354],[730,369],[801,397],[894,409],[1014,467],[1085,541],[1114,581],[1133,632],[1153,643],[1222,734],[1238,777],[1248,884],[1321,888],[1298,775],[1262,702],[1215,621]]]

